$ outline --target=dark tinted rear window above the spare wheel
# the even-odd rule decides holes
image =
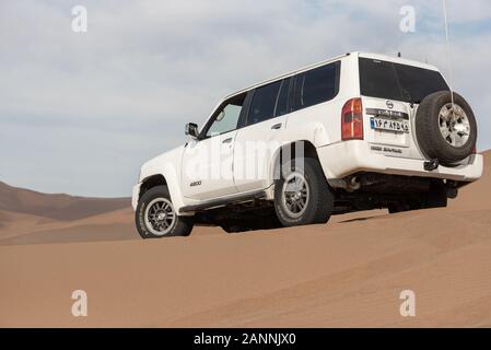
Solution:
[[[448,85],[437,71],[360,58],[360,90],[364,96],[420,103]]]

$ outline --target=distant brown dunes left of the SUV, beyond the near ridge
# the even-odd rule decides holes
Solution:
[[[0,245],[135,237],[129,198],[48,195],[0,182]]]

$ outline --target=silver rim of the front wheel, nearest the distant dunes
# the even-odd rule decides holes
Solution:
[[[153,199],[145,209],[144,221],[147,229],[156,236],[163,236],[171,232],[176,221],[176,213],[172,202],[167,198]]]

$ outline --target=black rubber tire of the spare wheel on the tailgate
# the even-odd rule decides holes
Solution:
[[[468,158],[476,147],[478,135],[472,108],[463,96],[454,93],[454,103],[461,107],[467,116],[470,129],[469,136],[461,145],[453,145],[449,143],[449,137],[447,138],[449,141],[444,138],[440,130],[440,112],[445,105],[451,103],[452,96],[449,91],[440,91],[428,95],[418,107],[414,121],[420,149],[428,159],[439,160],[444,165],[455,164]]]

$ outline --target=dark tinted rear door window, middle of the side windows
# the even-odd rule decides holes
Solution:
[[[277,81],[269,85],[256,89],[253,95],[253,101],[250,102],[247,125],[261,122],[273,117],[280,86],[281,81]]]

